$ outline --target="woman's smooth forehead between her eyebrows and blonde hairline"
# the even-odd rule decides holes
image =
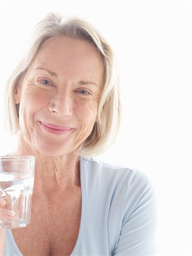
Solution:
[[[37,53],[32,67],[51,69],[53,72],[103,76],[104,68],[97,49],[86,40],[56,37]]]

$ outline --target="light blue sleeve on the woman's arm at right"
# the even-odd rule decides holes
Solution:
[[[148,177],[134,171],[124,199],[123,222],[114,256],[156,254],[157,203]]]

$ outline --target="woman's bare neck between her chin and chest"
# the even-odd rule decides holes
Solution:
[[[50,156],[30,148],[22,140],[11,155],[34,155],[34,189],[43,193],[80,188],[80,156],[72,152],[64,156]]]

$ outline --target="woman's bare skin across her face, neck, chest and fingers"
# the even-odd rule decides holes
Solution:
[[[97,122],[103,74],[94,46],[57,37],[40,49],[15,90],[21,136],[11,155],[36,157],[31,222],[12,229],[24,256],[70,255],[74,249],[81,220],[77,150]]]

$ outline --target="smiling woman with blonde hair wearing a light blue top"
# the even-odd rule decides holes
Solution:
[[[36,157],[31,222],[1,230],[3,255],[155,254],[148,178],[91,158],[120,123],[112,49],[89,23],[56,14],[41,20],[30,45],[9,81],[7,109],[19,134],[11,155]]]

